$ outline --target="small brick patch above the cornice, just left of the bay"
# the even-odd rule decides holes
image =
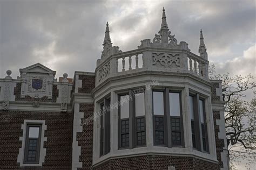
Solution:
[[[82,80],[82,88],[78,88],[78,93],[91,93],[95,88],[95,76],[79,75],[78,79]]]

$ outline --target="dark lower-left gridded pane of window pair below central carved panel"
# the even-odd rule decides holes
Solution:
[[[154,117],[155,143],[164,144],[164,118]]]

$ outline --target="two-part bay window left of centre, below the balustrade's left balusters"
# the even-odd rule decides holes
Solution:
[[[119,95],[119,148],[146,145],[145,94]]]

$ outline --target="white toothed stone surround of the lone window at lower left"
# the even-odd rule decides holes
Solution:
[[[27,124],[33,124],[33,123],[39,123],[42,124],[42,130],[41,130],[41,142],[40,142],[40,156],[39,156],[39,164],[23,164],[24,162],[24,150],[25,150],[25,139],[26,139],[26,125]],[[44,158],[46,155],[46,148],[44,148],[44,141],[47,141],[47,138],[44,137],[44,131],[47,129],[47,125],[45,125],[45,121],[41,120],[24,120],[24,124],[22,124],[21,129],[23,130],[23,136],[19,137],[19,140],[22,140],[22,147],[19,148],[19,154],[17,158],[17,162],[19,162],[19,166],[42,166],[42,163],[44,162]]]

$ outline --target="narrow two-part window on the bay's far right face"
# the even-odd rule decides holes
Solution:
[[[189,109],[191,117],[191,133],[193,148],[208,152],[205,101],[198,94],[190,95]]]

